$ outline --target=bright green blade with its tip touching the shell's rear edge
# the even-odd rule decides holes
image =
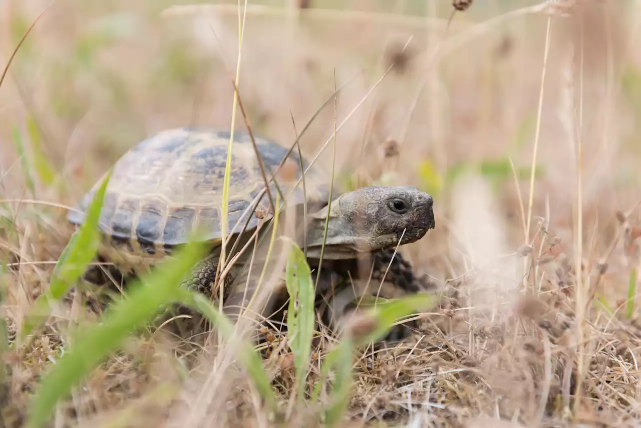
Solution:
[[[74,233],[60,255],[51,275],[49,289],[38,296],[22,328],[22,338],[42,322],[49,314],[51,300],[62,298],[82,275],[87,265],[94,259],[100,241],[100,230],[97,227],[100,211],[103,208],[104,193],[111,177],[108,171],[103,184],[99,187],[94,200],[89,206],[87,218],[78,232]]]

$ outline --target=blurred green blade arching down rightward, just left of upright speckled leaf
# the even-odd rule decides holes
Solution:
[[[217,327],[225,339],[234,337],[235,329],[231,321],[229,321],[224,314],[221,314],[212,302],[201,293],[182,290],[180,300],[182,304],[192,307],[206,316],[208,320]],[[238,357],[244,364],[245,370],[247,370],[247,374],[251,378],[254,387],[265,399],[265,402],[267,402],[267,406],[272,411],[276,411],[276,397],[274,397],[271,382],[269,381],[269,377],[267,377],[267,372],[265,372],[263,368],[263,363],[258,352],[249,346],[249,344],[241,342]]]

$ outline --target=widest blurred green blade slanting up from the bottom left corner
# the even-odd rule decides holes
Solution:
[[[71,348],[49,367],[38,384],[25,426],[38,428],[46,424],[56,404],[129,334],[153,320],[163,306],[179,300],[179,282],[204,254],[202,245],[187,245],[176,259],[164,262],[146,278],[131,284],[129,298],[110,307],[99,323],[79,329],[73,335]]]

